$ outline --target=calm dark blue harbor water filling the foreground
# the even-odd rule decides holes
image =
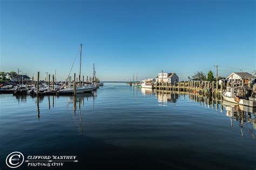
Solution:
[[[0,169],[7,155],[76,155],[63,167],[16,169],[255,169],[254,110],[125,83],[72,96],[1,94]],[[75,101],[75,102],[74,102]]]

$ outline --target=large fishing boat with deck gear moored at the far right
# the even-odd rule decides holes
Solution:
[[[252,89],[242,87],[227,87],[223,99],[231,103],[256,107],[256,98],[251,95]]]

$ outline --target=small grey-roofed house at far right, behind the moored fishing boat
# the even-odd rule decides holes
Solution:
[[[254,76],[247,72],[233,72],[226,79],[228,79],[228,82],[230,83],[241,83],[243,80],[243,83],[247,84],[252,78],[254,78]]]

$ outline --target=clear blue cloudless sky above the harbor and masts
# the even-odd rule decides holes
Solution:
[[[176,72],[253,71],[255,1],[1,0],[1,71],[64,80],[83,44],[82,73],[103,81]],[[71,72],[79,73],[79,58]],[[136,76],[135,76],[136,77]]]

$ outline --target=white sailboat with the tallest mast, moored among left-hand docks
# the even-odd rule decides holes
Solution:
[[[81,60],[82,60],[82,44],[80,44],[80,70],[79,70],[79,75],[81,75]],[[72,68],[71,68],[72,69]],[[79,76],[79,83],[80,83],[80,76]],[[76,93],[84,93],[84,92],[91,92],[96,89],[96,86],[90,85],[90,86],[77,86],[76,87]],[[66,89],[62,89],[58,91],[59,93],[73,93],[73,85],[70,85]]]

